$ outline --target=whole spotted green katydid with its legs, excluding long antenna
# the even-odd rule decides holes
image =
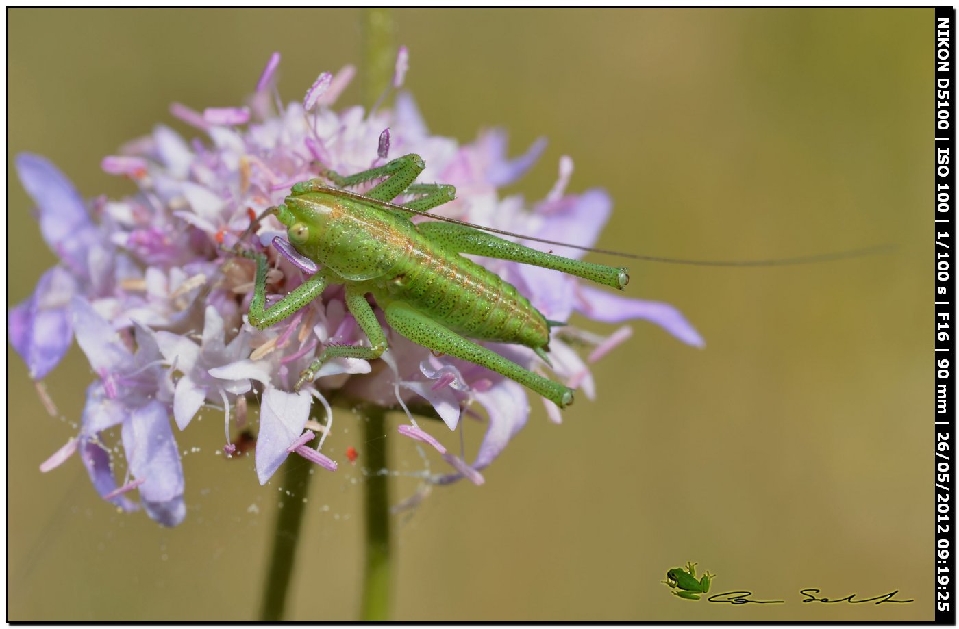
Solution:
[[[580,262],[516,245],[462,224],[409,221],[409,210],[425,212],[454,198],[452,186],[411,185],[423,170],[417,155],[343,177],[325,173],[339,186],[386,176],[364,196],[321,180],[298,183],[273,212],[288,228],[296,252],[320,268],[269,309],[267,259],[257,260],[256,290],[249,320],[266,328],[294,314],[329,285],[344,285],[346,306],[370,346],[332,345],[323,350],[296,384],[312,380],[331,358],[372,360],[386,350],[386,337],[366,299],[372,295],[386,322],[400,335],[435,352],[472,361],[503,374],[560,407],[573,402],[573,390],[554,383],[470,340],[525,345],[548,361],[550,323],[512,285],[461,254],[470,253],[555,268],[622,289],[625,268]],[[403,206],[389,203],[401,194],[424,194]]]

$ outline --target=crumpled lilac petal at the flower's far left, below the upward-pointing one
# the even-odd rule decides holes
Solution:
[[[33,296],[8,314],[11,343],[34,380],[50,373],[70,348],[73,326],[66,304],[74,291],[76,281],[70,274],[51,268],[40,277]]]

